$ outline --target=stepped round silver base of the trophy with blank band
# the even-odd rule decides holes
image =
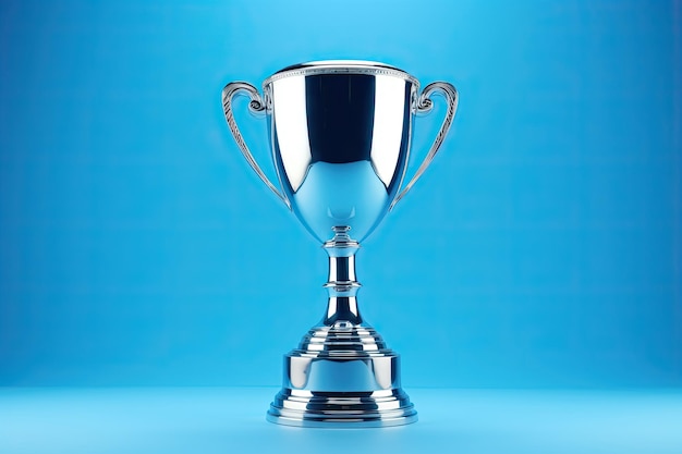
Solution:
[[[400,356],[366,324],[316,327],[284,357],[267,420],[285,426],[402,426],[417,413],[400,385]]]

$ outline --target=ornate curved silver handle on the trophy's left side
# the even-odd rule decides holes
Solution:
[[[279,197],[280,200],[287,205],[289,209],[291,209],[291,205],[289,204],[289,199],[282,194],[270,180],[263,173],[260,167],[254,159],[253,155],[248,150],[242,134],[240,133],[239,127],[236,127],[236,122],[234,121],[234,114],[232,113],[232,98],[235,95],[248,95],[251,98],[251,102],[248,103],[248,110],[252,112],[263,112],[266,109],[265,102],[258,90],[253,85],[246,82],[231,82],[222,89],[222,110],[224,111],[224,118],[228,122],[228,126],[230,127],[230,132],[232,132],[232,136],[234,137],[234,142],[240,147],[242,155],[246,158],[246,161],[251,165],[251,168],[256,172],[258,177]]]

